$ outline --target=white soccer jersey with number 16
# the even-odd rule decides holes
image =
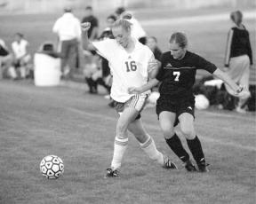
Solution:
[[[154,59],[147,46],[134,41],[135,48],[131,53],[125,51],[114,39],[92,43],[99,54],[108,59],[113,75],[110,96],[122,103],[134,95],[128,93],[128,88],[140,87],[148,82],[148,61]]]

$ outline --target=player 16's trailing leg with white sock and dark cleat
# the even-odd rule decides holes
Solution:
[[[166,169],[177,169],[176,165],[167,156],[156,149],[155,141],[144,129],[141,119],[131,122],[128,129],[139,141],[141,149],[148,154],[151,160],[156,161]]]

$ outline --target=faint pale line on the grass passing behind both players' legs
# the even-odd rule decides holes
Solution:
[[[83,110],[79,110],[79,109],[72,108],[72,107],[68,107],[68,108],[66,108],[66,109],[68,109],[68,111],[71,111],[71,112],[76,113],[76,114],[87,115],[87,116],[94,117],[94,118],[98,118],[98,119],[101,119],[101,120],[106,120],[106,119],[108,119],[108,121],[116,122],[116,119],[115,119],[115,118],[109,117],[109,116],[106,116],[106,115],[91,114],[91,113],[85,112],[85,111],[83,111]],[[150,123],[145,123],[145,126],[147,126],[148,129],[151,129],[151,130],[155,130],[155,131],[159,131],[159,130],[160,130],[160,128],[156,128],[155,125],[150,124]],[[204,141],[206,141],[206,142],[216,143],[216,144],[218,144],[218,145],[232,146],[232,147],[236,147],[236,148],[239,148],[239,149],[244,149],[244,150],[256,152],[256,148],[253,147],[253,146],[239,145],[239,144],[236,144],[236,143],[233,143],[233,142],[224,142],[224,141],[221,141],[220,139],[215,139],[215,138],[210,138],[210,137],[205,137],[205,136],[204,136],[204,137],[201,137],[201,138],[202,138]]]

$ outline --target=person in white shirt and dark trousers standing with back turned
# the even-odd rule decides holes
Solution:
[[[55,22],[52,31],[59,37],[62,76],[72,78],[81,41],[81,27],[71,8],[64,9],[64,14]]]

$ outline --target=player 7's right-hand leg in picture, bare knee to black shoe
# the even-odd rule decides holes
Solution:
[[[204,152],[199,138],[196,136],[194,127],[194,115],[183,113],[179,115],[180,130],[187,138],[188,148],[191,151],[198,169],[202,172],[208,171],[207,164],[204,159]]]

